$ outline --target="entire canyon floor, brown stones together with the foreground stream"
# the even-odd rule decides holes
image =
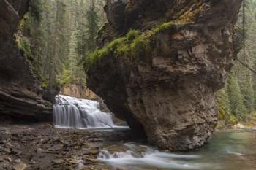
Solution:
[[[141,145],[130,131],[0,123],[0,170],[254,170],[255,139],[255,131],[219,132],[198,150],[168,153]]]

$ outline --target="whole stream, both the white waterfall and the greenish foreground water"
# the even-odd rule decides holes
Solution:
[[[97,101],[57,96],[53,107],[56,128],[129,131],[118,127],[112,115],[100,111]],[[205,146],[192,152],[160,152],[139,142],[103,142],[97,160],[113,169],[128,170],[251,170],[256,169],[256,132],[215,133]],[[83,169],[82,161],[79,166]]]

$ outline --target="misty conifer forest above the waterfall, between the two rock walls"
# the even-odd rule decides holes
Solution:
[[[42,88],[86,82],[80,63],[96,47],[98,27],[106,19],[104,5],[96,0],[31,1],[16,39]]]

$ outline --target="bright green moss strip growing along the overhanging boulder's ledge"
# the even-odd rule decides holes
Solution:
[[[86,56],[84,68],[86,72],[99,63],[103,57],[113,55],[123,58],[142,58],[151,54],[154,50],[155,35],[162,31],[170,31],[176,26],[175,23],[163,23],[152,31],[141,33],[138,30],[131,30],[126,36],[115,39],[102,49],[97,49],[94,53]]]

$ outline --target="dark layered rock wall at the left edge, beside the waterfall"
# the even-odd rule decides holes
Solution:
[[[29,0],[0,1],[0,115],[40,117],[50,113],[52,95],[42,90],[13,37],[28,7]]]

